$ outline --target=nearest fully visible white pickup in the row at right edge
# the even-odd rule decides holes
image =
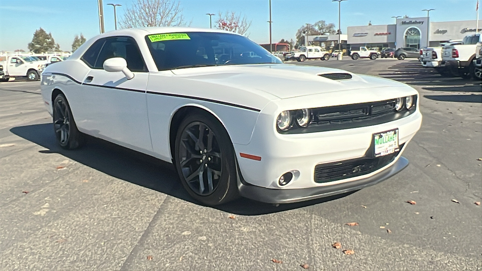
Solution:
[[[469,35],[462,40],[462,44],[443,46],[440,67],[447,68],[452,74],[462,78],[480,80],[481,72],[473,60],[481,38],[481,34]]]

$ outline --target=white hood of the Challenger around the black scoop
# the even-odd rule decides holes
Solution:
[[[341,69],[289,64],[183,68],[174,69],[172,72],[187,80],[226,85],[251,92],[261,91],[281,99],[345,90],[404,85],[400,82],[354,74]],[[351,79],[333,80],[322,76],[334,73],[348,74]]]

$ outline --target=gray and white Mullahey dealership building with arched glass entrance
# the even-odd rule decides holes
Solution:
[[[396,25],[348,27],[347,44],[369,48],[435,47],[441,42],[462,40],[475,34],[475,27],[476,20],[430,22],[429,17],[398,18]]]

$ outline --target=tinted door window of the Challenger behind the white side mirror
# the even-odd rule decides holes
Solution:
[[[142,58],[137,43],[130,37],[108,38],[99,56],[95,61],[94,68],[102,68],[104,61],[112,57],[122,57],[127,62],[127,68],[131,71],[147,71],[146,64]]]

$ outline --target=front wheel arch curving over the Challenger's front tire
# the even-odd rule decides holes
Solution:
[[[229,137],[229,140],[231,141],[231,144],[233,142],[231,139],[231,135],[229,135],[228,129],[226,128],[226,125],[221,120],[221,118],[216,113],[213,112],[213,110],[199,104],[183,105],[174,110],[173,114],[171,115],[171,120],[169,122],[169,152],[171,154],[171,160],[173,160],[173,163],[174,163],[174,149],[175,149],[174,144],[176,141],[176,134],[177,134],[177,130],[179,129],[179,125],[189,113],[196,110],[205,111],[206,113],[212,115],[219,123],[221,123],[221,125],[228,133],[228,137]]]

